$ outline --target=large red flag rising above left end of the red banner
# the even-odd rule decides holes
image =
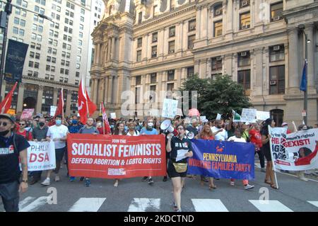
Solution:
[[[96,109],[97,106],[90,101],[86,88],[84,87],[83,79],[81,79],[78,87],[78,114],[81,116],[81,123],[86,124],[88,115],[93,115]]]

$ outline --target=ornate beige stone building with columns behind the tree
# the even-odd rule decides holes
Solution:
[[[122,115],[122,93],[131,91],[131,115],[146,116],[146,105],[160,114],[160,91],[176,92],[194,74],[228,74],[276,123],[301,123],[307,44],[308,123],[317,122],[318,1],[104,2],[104,18],[92,34],[90,97],[107,112]]]

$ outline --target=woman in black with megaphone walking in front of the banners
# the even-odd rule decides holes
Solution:
[[[186,128],[184,125],[178,125],[178,135],[167,137],[167,152],[170,152],[170,161],[168,164],[168,175],[172,180],[174,202],[173,207],[177,212],[181,211],[181,191],[182,182],[187,176],[187,158],[193,156],[192,143],[184,137]]]

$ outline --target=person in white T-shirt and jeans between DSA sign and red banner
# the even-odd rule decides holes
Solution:
[[[61,161],[64,156],[64,152],[66,151],[66,137],[69,133],[69,129],[62,125],[62,116],[57,115],[55,118],[55,125],[52,125],[49,127],[49,130],[47,130],[47,141],[54,141],[55,145],[55,159],[57,168],[55,169],[55,179],[54,181],[60,181],[59,178],[59,169],[61,167]],[[51,184],[50,176],[52,174],[52,170],[47,171],[47,179],[43,181],[41,184],[44,186],[49,186]]]

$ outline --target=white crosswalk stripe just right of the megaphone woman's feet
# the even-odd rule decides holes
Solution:
[[[220,199],[192,198],[196,212],[228,212]]]

